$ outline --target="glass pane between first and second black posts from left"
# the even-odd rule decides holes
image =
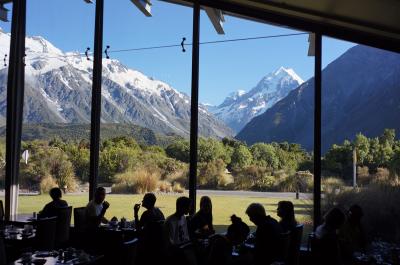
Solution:
[[[53,187],[69,205],[88,201],[93,62],[84,52],[93,45],[95,11],[80,0],[27,4],[21,148],[29,157],[20,164],[20,215],[41,211]]]

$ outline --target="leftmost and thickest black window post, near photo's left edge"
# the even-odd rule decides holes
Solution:
[[[12,9],[10,62],[7,80],[6,220],[15,220],[18,207],[18,174],[25,89],[26,0],[14,0]]]

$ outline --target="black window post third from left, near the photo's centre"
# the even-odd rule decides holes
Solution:
[[[200,40],[200,3],[193,4],[193,45],[192,45],[192,95],[190,106],[190,165],[189,198],[192,200],[190,214],[196,212],[197,185],[197,140],[199,121],[199,40]]]

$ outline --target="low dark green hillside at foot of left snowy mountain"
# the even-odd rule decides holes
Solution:
[[[145,145],[166,146],[180,136],[171,134],[164,136],[154,133],[152,130],[143,128],[133,124],[101,124],[101,140],[129,136],[134,138],[138,143]],[[0,137],[5,137],[5,126],[0,127]],[[22,140],[51,140],[59,137],[65,141],[80,141],[82,139],[90,139],[90,124],[65,124],[65,123],[42,123],[42,124],[24,124],[22,129]]]

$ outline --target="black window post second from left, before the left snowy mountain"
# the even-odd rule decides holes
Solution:
[[[96,0],[96,20],[94,26],[92,113],[90,129],[90,174],[89,200],[93,199],[99,175],[100,117],[101,117],[101,77],[103,57],[103,14],[104,0]]]

